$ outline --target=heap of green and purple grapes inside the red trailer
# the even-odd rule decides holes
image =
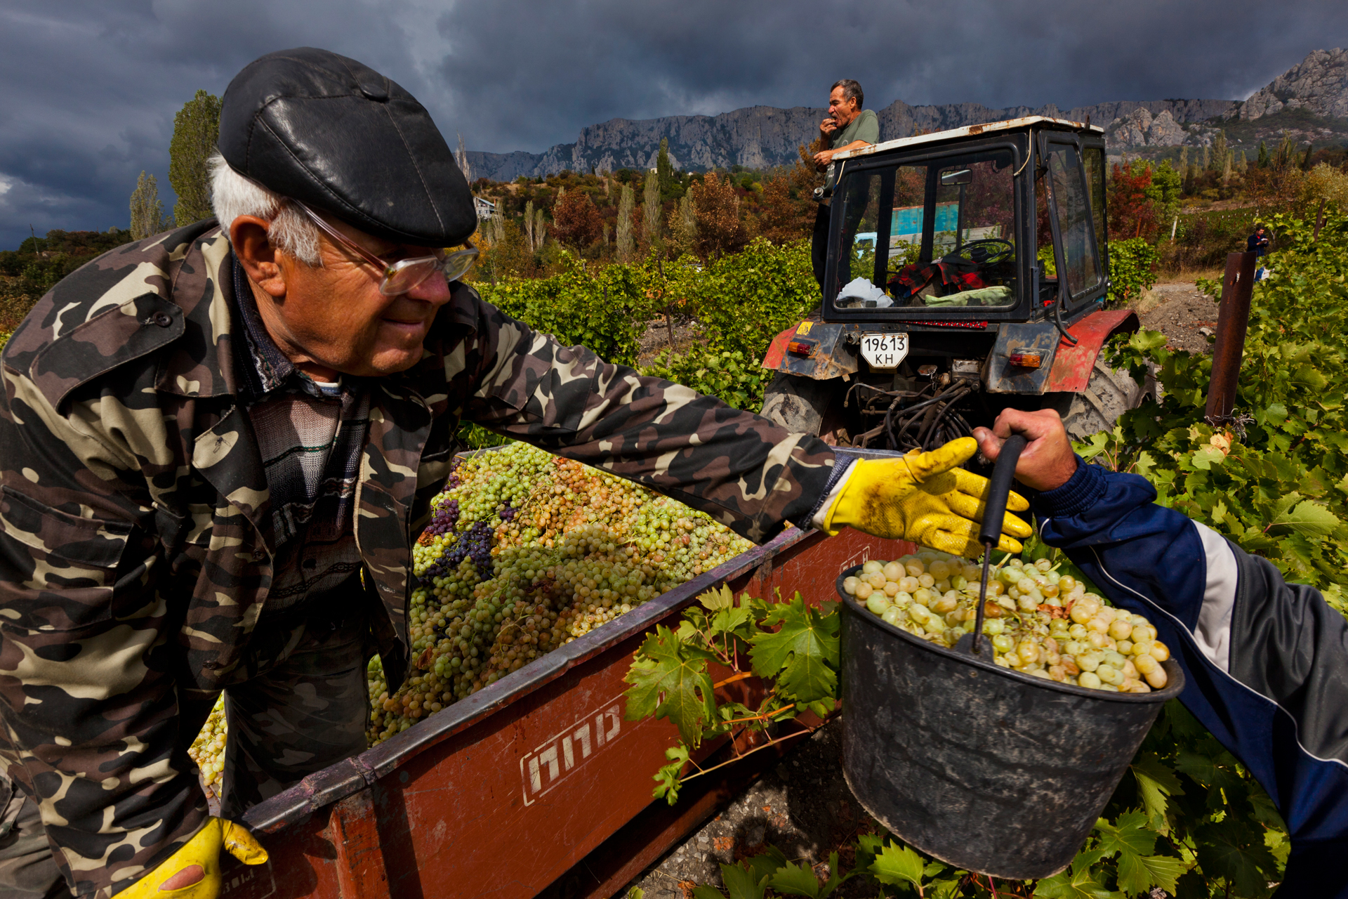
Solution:
[[[414,670],[390,691],[371,662],[371,744],[749,547],[702,512],[526,443],[465,461],[433,509],[412,547]]]

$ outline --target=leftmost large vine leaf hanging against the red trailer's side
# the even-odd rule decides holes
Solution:
[[[656,627],[623,678],[632,685],[627,690],[627,720],[669,718],[683,743],[697,747],[702,741],[702,722],[716,718],[712,678],[706,673],[708,660],[714,658],[681,642],[667,627]]]

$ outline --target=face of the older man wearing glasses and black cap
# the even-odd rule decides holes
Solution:
[[[334,218],[328,224],[387,263],[427,256],[433,248],[391,244]],[[326,235],[319,236],[324,264],[311,268],[278,253],[286,282],[284,295],[259,311],[278,346],[303,371],[322,375],[379,376],[402,372],[422,356],[422,341],[439,307],[449,301],[449,284],[433,275],[399,297],[379,292],[383,272]],[[305,364],[305,363],[309,364]]]

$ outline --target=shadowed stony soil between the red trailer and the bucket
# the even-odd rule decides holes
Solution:
[[[817,875],[828,877],[829,853],[878,826],[842,779],[841,724],[836,718],[820,728],[774,771],[617,895],[628,896],[636,887],[643,899],[686,899],[694,884],[720,887],[721,864],[758,855],[764,844],[772,844],[793,861],[809,860]],[[848,855],[840,857],[844,869],[849,863]],[[834,895],[868,892],[860,880],[852,880]]]

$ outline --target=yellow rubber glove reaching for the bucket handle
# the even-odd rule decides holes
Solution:
[[[979,442],[961,437],[930,453],[913,450],[903,458],[857,460],[847,487],[824,519],[824,530],[837,534],[844,526],[874,536],[913,540],[942,553],[977,558],[979,522],[988,478],[958,468],[979,452]],[[998,549],[1019,553],[1014,538],[1027,538],[1033,530],[1010,515],[1023,512],[1030,503],[1016,492],[1007,497]]]

